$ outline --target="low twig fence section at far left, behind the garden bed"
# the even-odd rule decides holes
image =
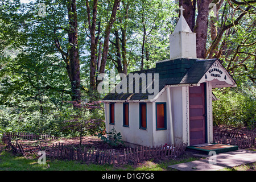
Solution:
[[[33,133],[3,133],[3,138],[9,138],[9,140],[26,139],[26,140],[43,140],[43,139],[56,139],[56,137],[49,134],[33,134]]]

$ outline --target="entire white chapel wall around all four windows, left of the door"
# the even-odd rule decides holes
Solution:
[[[106,131],[115,128],[121,132],[122,139],[129,143],[144,146],[160,146],[161,144],[172,144],[170,125],[172,118],[174,130],[174,144],[180,144],[189,140],[188,110],[183,109],[187,104],[187,86],[170,88],[172,117],[168,110],[167,90],[156,99],[155,102],[147,103],[147,130],[139,129],[139,102],[129,102],[129,127],[123,127],[123,104],[115,103],[115,124],[109,124],[109,104],[105,104]],[[166,102],[167,130],[156,130],[156,102]],[[184,132],[185,131],[185,132]]]

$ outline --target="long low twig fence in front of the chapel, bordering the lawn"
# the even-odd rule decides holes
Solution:
[[[53,144],[47,156],[50,159],[80,160],[93,164],[137,164],[148,159],[175,159],[184,154],[187,144],[179,146],[156,146],[125,148],[123,153],[115,150],[94,150],[93,148],[73,148],[63,144]]]

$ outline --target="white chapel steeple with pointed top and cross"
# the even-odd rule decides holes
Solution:
[[[180,6],[180,18],[173,34],[170,35],[170,59],[197,58],[196,34],[191,31],[183,16],[183,7]]]

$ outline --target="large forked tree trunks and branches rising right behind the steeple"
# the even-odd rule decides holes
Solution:
[[[229,4],[230,1],[228,0]],[[250,3],[254,3],[251,1],[250,3],[245,3],[245,2],[237,2],[235,0],[232,0],[232,2],[236,2],[241,5],[247,5],[246,9],[242,9],[240,7],[240,10],[242,10],[242,13],[240,16],[237,17],[234,22],[225,24],[222,19],[222,27],[221,30],[218,32],[218,35],[212,35],[213,43],[210,46],[210,48],[207,50],[206,45],[207,45],[207,36],[208,36],[208,15],[209,15],[209,10],[210,10],[210,3],[213,3],[215,11],[218,12],[220,9],[220,6],[222,5],[223,1],[221,0],[193,0],[193,1],[188,1],[188,0],[179,0],[179,5],[184,7],[184,18],[187,20],[189,27],[193,32],[196,33],[196,44],[197,44],[197,57],[199,58],[206,58],[207,56],[209,58],[212,58],[213,53],[216,51],[216,47],[220,43],[220,40],[222,38],[222,35],[226,30],[228,30],[230,27],[236,26],[242,19],[242,17],[248,13],[250,10],[251,6]],[[195,6],[197,5],[197,16],[195,14],[196,9]],[[196,17],[196,21],[195,21]],[[210,25],[213,25],[213,22],[210,23]],[[212,32],[215,29],[212,29]]]

